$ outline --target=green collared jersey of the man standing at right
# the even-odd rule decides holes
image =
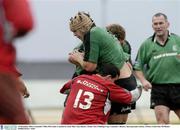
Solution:
[[[170,34],[163,46],[155,35],[148,38],[142,43],[133,68],[144,71],[151,83],[180,83],[180,37]]]

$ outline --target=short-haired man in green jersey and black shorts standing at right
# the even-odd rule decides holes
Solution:
[[[169,124],[170,111],[180,118],[180,37],[168,31],[163,13],[152,17],[154,35],[139,48],[134,70],[145,90],[151,89],[151,105],[158,124]]]

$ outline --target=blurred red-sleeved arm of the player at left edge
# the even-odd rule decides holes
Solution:
[[[16,37],[26,35],[33,28],[33,18],[30,5],[27,0],[5,0],[3,30],[4,39],[7,43]]]

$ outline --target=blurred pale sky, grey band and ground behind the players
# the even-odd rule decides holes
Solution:
[[[64,95],[61,86],[71,78],[74,66],[68,53],[79,43],[69,30],[69,19],[78,11],[89,12],[97,26],[121,24],[132,47],[132,60],[143,40],[153,34],[152,16],[165,13],[170,32],[180,35],[180,0],[29,0],[34,30],[16,41],[18,67],[31,96],[25,99],[34,123],[57,124],[61,119]],[[129,124],[155,122],[149,109],[149,92],[143,92]],[[172,122],[178,122],[174,113]]]

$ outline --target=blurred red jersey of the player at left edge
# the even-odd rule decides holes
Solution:
[[[5,40],[7,23],[13,26],[16,36],[24,36],[33,28],[33,19],[27,0],[0,0],[0,71],[19,76],[16,64],[16,50],[12,40]],[[11,33],[10,35],[12,35]]]

